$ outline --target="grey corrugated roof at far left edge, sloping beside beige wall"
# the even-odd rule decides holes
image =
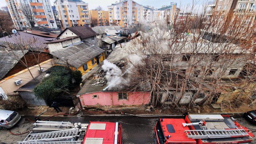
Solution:
[[[28,52],[24,51],[25,54]],[[23,57],[21,50],[0,51],[0,80],[20,61]]]

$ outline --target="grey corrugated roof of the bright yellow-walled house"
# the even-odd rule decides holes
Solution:
[[[92,46],[89,43],[80,42],[67,48],[55,50],[50,54],[63,61],[68,59],[70,65],[79,68],[79,66],[84,65],[86,62],[103,52],[104,50],[99,47]]]

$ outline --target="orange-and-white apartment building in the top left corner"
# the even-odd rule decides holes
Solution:
[[[6,4],[17,30],[23,30],[25,27],[31,27],[20,10],[21,5],[31,7],[31,9],[28,10],[31,10],[34,14],[36,21],[35,26],[57,29],[49,0],[6,0]]]

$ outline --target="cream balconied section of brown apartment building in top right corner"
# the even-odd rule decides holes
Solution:
[[[234,15],[244,16],[245,25],[252,26],[256,22],[256,0],[238,0]]]

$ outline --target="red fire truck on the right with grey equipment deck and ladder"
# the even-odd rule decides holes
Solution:
[[[155,144],[249,143],[254,135],[230,115],[189,114],[161,118],[154,129]]]

